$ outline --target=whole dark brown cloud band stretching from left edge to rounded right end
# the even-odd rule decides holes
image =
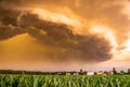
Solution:
[[[105,61],[112,57],[108,53],[110,50],[108,41],[96,35],[74,35],[70,26],[39,20],[38,15],[29,12],[11,10],[3,12],[5,15],[1,16],[0,40],[28,33],[37,38],[39,44],[48,46],[50,49],[47,52],[48,59],[56,61]]]

